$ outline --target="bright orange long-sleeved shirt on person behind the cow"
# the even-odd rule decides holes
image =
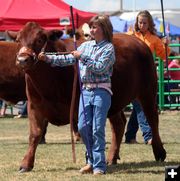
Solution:
[[[145,36],[143,36],[141,32],[133,32],[133,31],[128,32],[127,34],[135,35],[137,38],[139,38],[149,46],[153,54],[160,57],[162,60],[166,59],[165,46],[158,36],[151,34],[149,31],[145,34]],[[169,55],[169,53],[170,53],[170,48],[168,47],[167,54]]]

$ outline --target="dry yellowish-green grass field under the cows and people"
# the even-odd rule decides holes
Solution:
[[[39,145],[33,171],[19,173],[20,162],[28,147],[28,120],[0,118],[0,181],[164,181],[165,166],[180,164],[180,111],[164,112],[160,118],[160,135],[167,151],[165,162],[156,162],[151,146],[145,145],[138,131],[140,144],[122,143],[121,160],[108,167],[106,175],[80,175],[84,166],[84,145],[76,144],[76,163],[72,161],[69,125],[48,126],[47,144]],[[111,131],[107,122],[107,151]]]

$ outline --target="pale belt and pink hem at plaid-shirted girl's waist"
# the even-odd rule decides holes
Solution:
[[[111,95],[113,94],[111,90],[111,83],[83,83],[82,87],[87,90],[102,88],[106,89]]]

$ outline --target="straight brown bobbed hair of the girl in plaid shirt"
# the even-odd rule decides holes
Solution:
[[[107,15],[96,15],[89,21],[89,27],[93,24],[97,24],[103,30],[104,37],[107,41],[112,42],[113,27],[109,17]]]

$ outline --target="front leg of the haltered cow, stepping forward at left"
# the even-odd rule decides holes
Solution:
[[[37,116],[29,112],[28,116],[30,125],[29,147],[21,162],[21,166],[19,169],[20,173],[28,172],[33,169],[35,152],[43,135],[43,132],[47,127],[47,122],[39,115]]]

